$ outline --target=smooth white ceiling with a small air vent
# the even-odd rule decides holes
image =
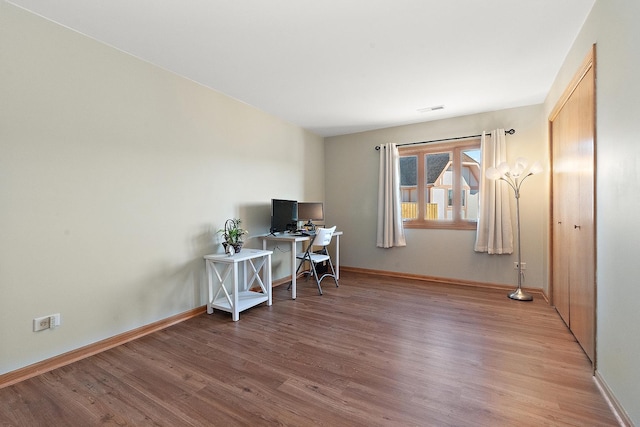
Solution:
[[[543,102],[594,1],[9,3],[332,136]]]

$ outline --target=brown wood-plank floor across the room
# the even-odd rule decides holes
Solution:
[[[343,272],[0,389],[2,426],[616,426],[541,298]]]

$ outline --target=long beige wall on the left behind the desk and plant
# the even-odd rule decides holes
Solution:
[[[0,64],[0,374],[203,305],[225,219],[324,197],[321,137],[3,1]]]

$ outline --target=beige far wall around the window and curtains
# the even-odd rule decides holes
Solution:
[[[515,286],[516,255],[474,252],[475,231],[407,229],[405,248],[377,248],[379,157],[374,147],[386,142],[426,141],[514,128],[516,133],[507,136],[509,160],[524,156],[546,163],[548,146],[542,113],[542,105],[535,105],[327,138],[328,223],[345,232],[341,247],[343,265]],[[545,290],[549,212],[546,169],[544,174],[524,183],[520,199],[522,256],[527,263],[525,286]],[[514,202],[513,193],[511,196]]]

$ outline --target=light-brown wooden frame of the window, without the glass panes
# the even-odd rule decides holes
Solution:
[[[448,230],[475,230],[477,228],[478,220],[468,220],[461,217],[462,212],[462,153],[470,149],[480,150],[480,138],[470,138],[459,141],[449,141],[442,143],[428,143],[417,145],[399,146],[398,151],[400,157],[416,156],[417,157],[417,185],[416,192],[418,195],[417,219],[403,219],[402,224],[404,228],[424,228],[424,229],[448,229]],[[452,209],[452,219],[424,219],[424,207],[425,201],[425,156],[427,154],[437,154],[450,152],[452,159],[451,165],[453,168],[453,182],[452,187],[454,200]],[[482,167],[482,165],[480,165]],[[479,178],[481,179],[481,177]],[[468,203],[468,200],[467,200]]]

